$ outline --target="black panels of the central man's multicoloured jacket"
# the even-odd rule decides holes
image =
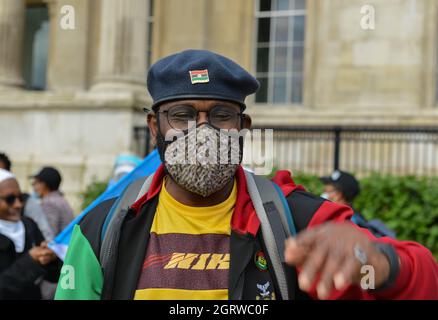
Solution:
[[[113,198],[102,202],[92,210],[92,213],[86,215],[79,224],[82,234],[89,242],[97,258],[100,256],[102,227],[115,200]],[[309,221],[323,203],[323,199],[303,191],[293,192],[287,197],[287,201],[290,206],[293,206],[294,210],[301,213],[295,219],[298,231],[307,227]],[[131,210],[128,212],[120,230],[117,252],[113,255],[114,260],[109,263],[111,269],[107,270],[104,276],[101,299],[133,299],[157,203],[158,197],[154,197],[146,203],[139,214],[135,215]],[[279,298],[277,281],[273,272],[271,270],[260,272],[254,263],[254,256],[260,250],[266,252],[261,231],[255,237],[250,234],[231,231],[229,299],[263,299],[257,285],[263,285],[267,282],[271,285],[270,292],[275,293],[275,296],[269,298]],[[266,258],[269,265],[270,258],[269,256],[266,256]],[[306,293],[298,288],[295,268],[286,265],[284,265],[284,268],[288,275],[289,298],[310,299]]]

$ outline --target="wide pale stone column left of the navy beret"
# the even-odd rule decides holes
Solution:
[[[147,0],[101,1],[97,70],[92,90],[145,92]]]

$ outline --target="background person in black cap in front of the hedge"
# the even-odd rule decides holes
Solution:
[[[331,176],[321,177],[320,180],[324,183],[324,193],[321,197],[351,207],[354,211],[351,220],[355,224],[370,230],[376,237],[396,237],[395,232],[390,230],[381,220],[368,221],[354,209],[353,202],[360,193],[360,185],[351,173],[335,170]]]

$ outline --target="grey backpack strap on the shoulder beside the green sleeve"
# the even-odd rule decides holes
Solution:
[[[108,216],[105,219],[102,227],[102,245],[100,247],[100,265],[104,275],[104,287],[102,290],[102,299],[108,299],[111,297],[111,289],[113,287],[112,275],[115,271],[114,260],[117,254],[117,246],[120,238],[120,230],[122,228],[123,221],[128,213],[129,206],[141,196],[143,196],[152,183],[153,174],[147,178],[139,178],[132,182],[125,191],[120,195]]]

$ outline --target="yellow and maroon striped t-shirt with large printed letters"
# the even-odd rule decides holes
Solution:
[[[236,197],[234,182],[224,202],[190,207],[175,200],[164,181],[134,299],[228,299]]]

